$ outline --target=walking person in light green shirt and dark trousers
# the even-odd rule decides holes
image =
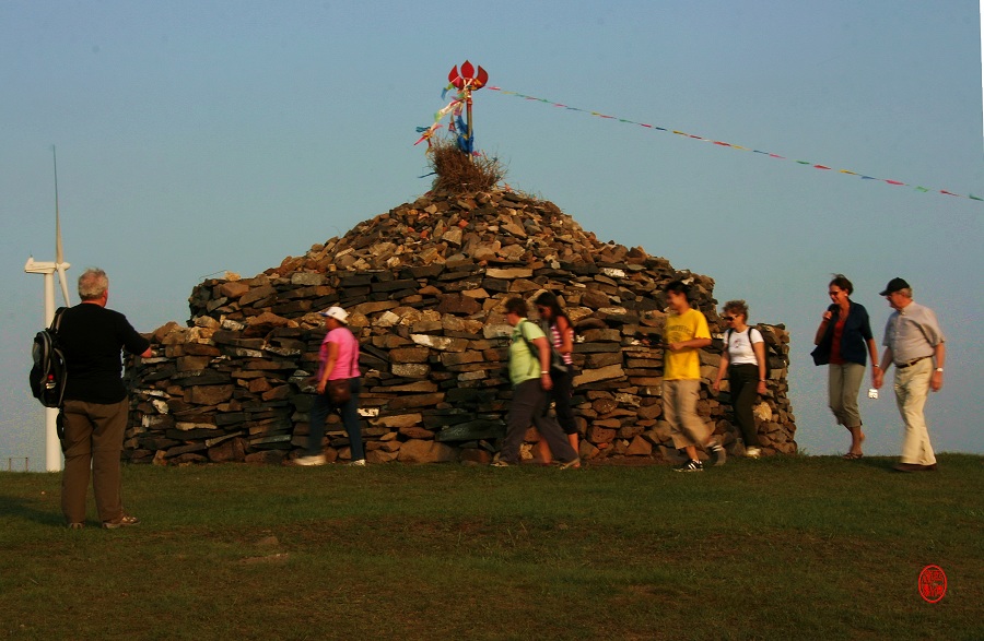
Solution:
[[[543,409],[547,392],[553,387],[550,379],[550,343],[543,331],[527,320],[526,301],[509,298],[505,302],[506,321],[513,327],[509,340],[509,381],[513,400],[506,417],[506,436],[502,443],[496,467],[519,463],[519,446],[526,429],[532,424],[547,439],[550,451],[561,462],[561,470],[574,467],[579,458],[564,437],[557,419]]]

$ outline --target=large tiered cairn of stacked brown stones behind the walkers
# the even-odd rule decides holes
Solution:
[[[256,277],[226,274],[196,286],[188,327],[157,329],[154,356],[128,368],[124,455],[156,464],[300,455],[314,399],[309,377],[326,333],[317,312],[338,305],[361,343],[367,461],[487,463],[505,432],[512,395],[503,304],[550,290],[577,331],[573,405],[582,458],[679,461],[660,397],[661,289],[688,277],[715,336],[701,352],[698,408],[741,454],[727,394],[710,391],[723,325],[713,280],[677,272],[642,248],[600,242],[551,202],[493,191],[429,193]],[[789,335],[783,325],[758,328],[769,353],[769,392],[754,411],[760,438],[765,453],[792,454]],[[349,459],[337,416],[327,431],[328,460]],[[534,459],[538,438],[532,428],[526,435],[525,460]]]

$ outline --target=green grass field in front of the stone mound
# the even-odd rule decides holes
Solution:
[[[128,466],[117,531],[0,473],[0,636],[984,638],[984,458],[893,461]]]

